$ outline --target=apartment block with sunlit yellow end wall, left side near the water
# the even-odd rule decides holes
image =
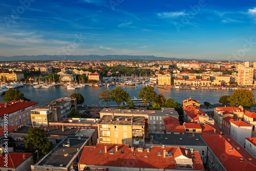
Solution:
[[[31,110],[33,126],[49,126],[49,122],[66,118],[72,109],[77,109],[76,98],[62,97]]]

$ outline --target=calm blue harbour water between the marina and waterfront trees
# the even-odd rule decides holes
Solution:
[[[139,84],[137,88],[133,87],[122,87],[129,95],[133,98],[138,96],[139,90],[144,87],[144,84]],[[105,105],[105,103],[99,101],[99,93],[101,90],[115,89],[115,87],[95,87],[86,86],[81,89],[67,90],[66,86],[56,86],[50,89],[34,89],[33,86],[24,86],[19,88],[19,90],[24,93],[25,97],[31,99],[32,101],[39,102],[39,105],[48,103],[60,97],[69,97],[72,93],[81,93],[84,97],[84,104],[87,105]],[[155,88],[156,93],[162,93],[165,98],[174,98],[177,102],[182,103],[183,99],[189,97],[199,100],[200,103],[208,101],[210,103],[218,103],[219,98],[222,95],[230,95],[233,90],[209,90],[209,89],[199,89],[199,90],[177,90],[177,89],[158,89]],[[256,96],[256,91],[252,90],[254,97]],[[4,102],[4,95],[0,95],[0,102]],[[109,104],[116,104],[115,102],[110,102]]]

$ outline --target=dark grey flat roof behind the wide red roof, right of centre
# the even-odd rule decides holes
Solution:
[[[195,145],[207,146],[200,135],[190,134],[148,134],[148,139],[145,139],[145,144],[151,144],[151,136],[153,136],[152,143],[157,145]],[[182,138],[182,139],[181,139]],[[197,140],[198,139],[198,140]]]

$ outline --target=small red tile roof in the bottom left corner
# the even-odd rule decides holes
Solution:
[[[4,157],[8,153],[3,153],[3,156],[0,156],[0,167],[5,167]],[[15,168],[20,163],[24,161],[23,155],[25,154],[26,159],[32,155],[32,153],[20,153],[20,152],[12,152],[8,154],[8,167]]]

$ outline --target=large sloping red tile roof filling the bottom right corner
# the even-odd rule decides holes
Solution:
[[[228,135],[201,135],[226,170],[256,170],[256,159]],[[228,139],[230,141],[228,141]],[[239,150],[237,148],[240,148]],[[230,148],[232,149],[231,151]],[[244,159],[240,162],[241,158]],[[252,159],[249,161],[249,158]]]

